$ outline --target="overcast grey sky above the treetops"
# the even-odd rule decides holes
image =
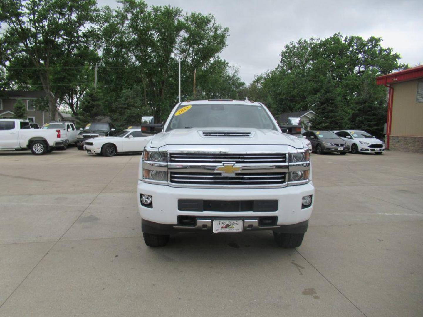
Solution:
[[[97,0],[115,8],[115,0]],[[229,27],[221,57],[239,67],[245,83],[255,74],[274,69],[289,41],[299,38],[343,36],[382,37],[401,62],[423,64],[423,1],[354,0],[146,0],[184,11],[211,13]]]

